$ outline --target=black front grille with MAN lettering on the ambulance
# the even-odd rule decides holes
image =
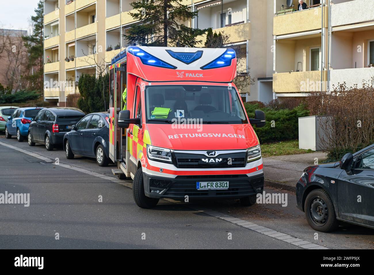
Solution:
[[[175,152],[174,154],[177,168],[238,168],[245,167],[246,165],[246,152],[218,154],[216,157],[207,157],[203,154],[190,154],[181,152]],[[203,160],[207,160],[208,162]],[[211,162],[211,160],[213,161]]]

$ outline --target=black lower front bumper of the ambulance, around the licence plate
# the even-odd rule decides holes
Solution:
[[[166,178],[143,172],[143,179],[145,195],[151,198],[185,199],[185,196],[188,196],[189,199],[231,199],[255,195],[264,189],[263,173],[254,176],[238,174]],[[229,189],[197,190],[196,182],[198,181],[228,181]]]

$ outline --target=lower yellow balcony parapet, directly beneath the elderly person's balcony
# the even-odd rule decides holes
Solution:
[[[322,90],[325,91],[327,71],[323,73]],[[321,90],[321,71],[274,73],[275,93],[310,93]]]

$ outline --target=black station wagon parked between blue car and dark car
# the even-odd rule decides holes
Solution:
[[[65,133],[73,129],[84,115],[80,109],[71,107],[43,109],[30,123],[28,145],[42,143],[48,151],[53,150],[54,145],[62,145]]]

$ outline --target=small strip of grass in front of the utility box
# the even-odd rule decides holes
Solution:
[[[263,157],[273,157],[276,155],[304,154],[312,152],[314,151],[310,149],[299,149],[299,141],[297,139],[261,144],[261,153]]]

